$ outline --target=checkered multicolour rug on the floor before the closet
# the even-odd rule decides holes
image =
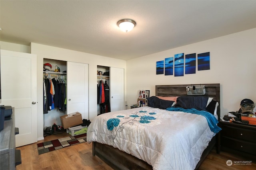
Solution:
[[[43,143],[38,143],[37,144],[37,149],[38,149],[38,154],[43,154],[47,153],[53,150],[57,149],[62,149],[64,147],[76,145],[79,143],[84,143],[86,142],[86,133],[77,135],[77,136],[69,136],[69,137],[64,137],[48,142],[43,142]]]

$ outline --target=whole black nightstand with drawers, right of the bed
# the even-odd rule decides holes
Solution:
[[[256,126],[220,121],[221,150],[256,160]]]

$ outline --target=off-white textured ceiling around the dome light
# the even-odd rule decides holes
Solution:
[[[255,27],[256,0],[0,0],[1,41],[124,60]]]

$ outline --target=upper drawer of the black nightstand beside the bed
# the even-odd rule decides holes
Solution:
[[[255,130],[242,129],[242,128],[226,126],[226,125],[222,125],[221,128],[222,128],[221,136],[241,139],[243,141],[248,141],[253,143],[256,142]]]

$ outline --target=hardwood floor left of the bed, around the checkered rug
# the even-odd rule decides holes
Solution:
[[[50,135],[38,143],[69,136],[68,133]],[[38,155],[36,143],[18,147],[22,164],[16,170],[113,170],[97,156],[92,156],[92,143],[81,143]]]

